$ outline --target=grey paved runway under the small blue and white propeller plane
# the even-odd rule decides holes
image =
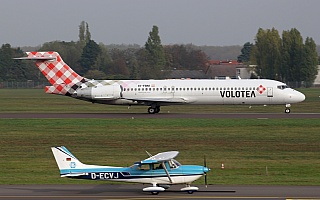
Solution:
[[[320,199],[320,186],[200,185],[193,194],[175,185],[159,195],[142,192],[146,185],[1,185],[0,199]]]

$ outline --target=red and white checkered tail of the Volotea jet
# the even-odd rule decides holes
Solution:
[[[46,93],[71,96],[80,84],[85,82],[85,78],[73,71],[57,52],[26,53],[27,57],[17,59],[36,61],[36,66],[52,84],[46,87]]]

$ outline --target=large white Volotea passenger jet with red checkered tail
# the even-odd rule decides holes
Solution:
[[[285,105],[302,102],[305,95],[286,84],[267,79],[237,80],[89,80],[73,71],[57,52],[27,52],[20,60],[35,60],[52,86],[49,94],[60,94],[92,103],[146,105],[150,114],[168,105]]]

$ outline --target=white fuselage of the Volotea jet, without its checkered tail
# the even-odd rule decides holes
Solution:
[[[284,83],[266,79],[94,81],[77,98],[116,105],[290,104],[305,96]]]

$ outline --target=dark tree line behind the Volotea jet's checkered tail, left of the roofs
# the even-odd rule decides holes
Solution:
[[[163,46],[157,26],[152,27],[144,47],[108,49],[103,43],[97,44],[88,23],[81,22],[78,41],[46,42],[36,51],[57,51],[76,72],[94,79],[161,79],[172,69],[205,69],[208,61],[201,50],[186,45]],[[12,59],[23,56],[20,48],[2,45],[0,81],[44,80],[32,62]]]

